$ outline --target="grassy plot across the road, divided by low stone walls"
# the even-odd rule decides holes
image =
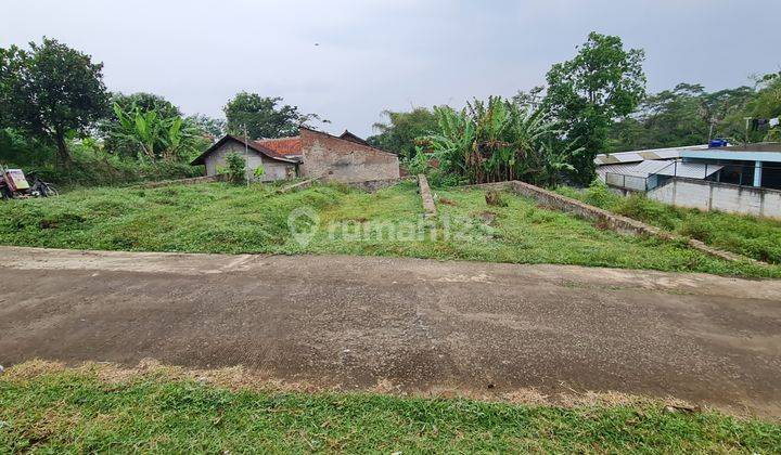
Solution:
[[[731,263],[655,238],[600,230],[504,194],[439,190],[437,222],[423,221],[412,183],[375,194],[318,185],[274,194],[272,185],[212,183],[155,190],[93,188],[0,205],[0,244],[138,251],[353,253],[516,263],[563,263],[743,276],[781,266]],[[308,232],[299,244],[291,235]],[[312,226],[309,216],[318,223]]]

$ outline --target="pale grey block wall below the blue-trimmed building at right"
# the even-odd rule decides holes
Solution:
[[[778,190],[677,178],[648,192],[648,197],[679,207],[781,219]]]

